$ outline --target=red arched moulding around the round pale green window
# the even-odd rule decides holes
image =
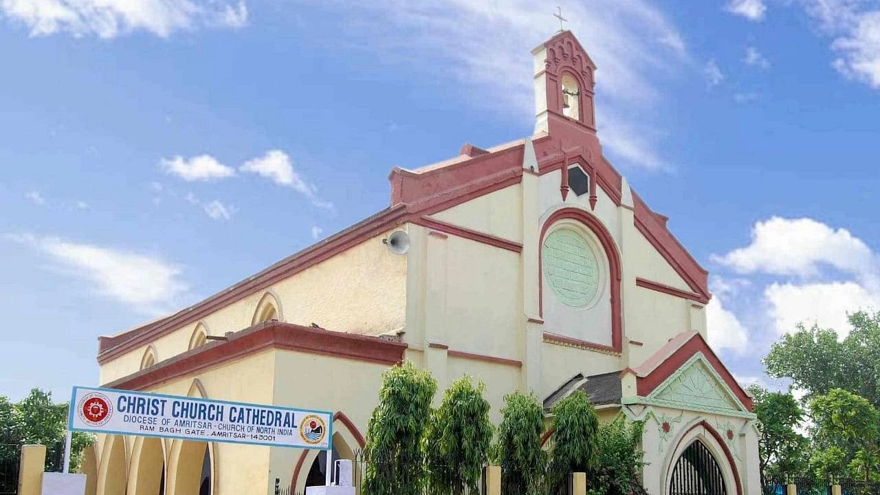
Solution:
[[[550,215],[550,217],[546,219],[546,221],[544,222],[544,226],[541,228],[541,236],[538,245],[539,314],[541,315],[541,317],[544,316],[544,263],[541,262],[541,256],[543,255],[544,249],[544,237],[546,236],[547,230],[551,226],[553,226],[554,223],[566,218],[570,218],[582,223],[584,226],[589,228],[592,233],[596,235],[599,244],[601,244],[602,248],[605,250],[605,257],[608,259],[608,268],[611,275],[611,277],[609,277],[609,285],[611,289],[611,347],[609,348],[607,345],[595,343],[586,344],[590,344],[590,347],[605,348],[610,351],[620,352],[622,348],[622,329],[620,321],[620,254],[618,253],[617,245],[614,244],[614,239],[612,238],[611,233],[608,232],[608,229],[605,228],[605,225],[602,225],[602,222],[600,222],[597,218],[593,217],[592,215],[590,215],[590,213],[587,213],[586,211],[578,210],[576,208],[564,208],[560,211],[556,211],[553,215]]]

